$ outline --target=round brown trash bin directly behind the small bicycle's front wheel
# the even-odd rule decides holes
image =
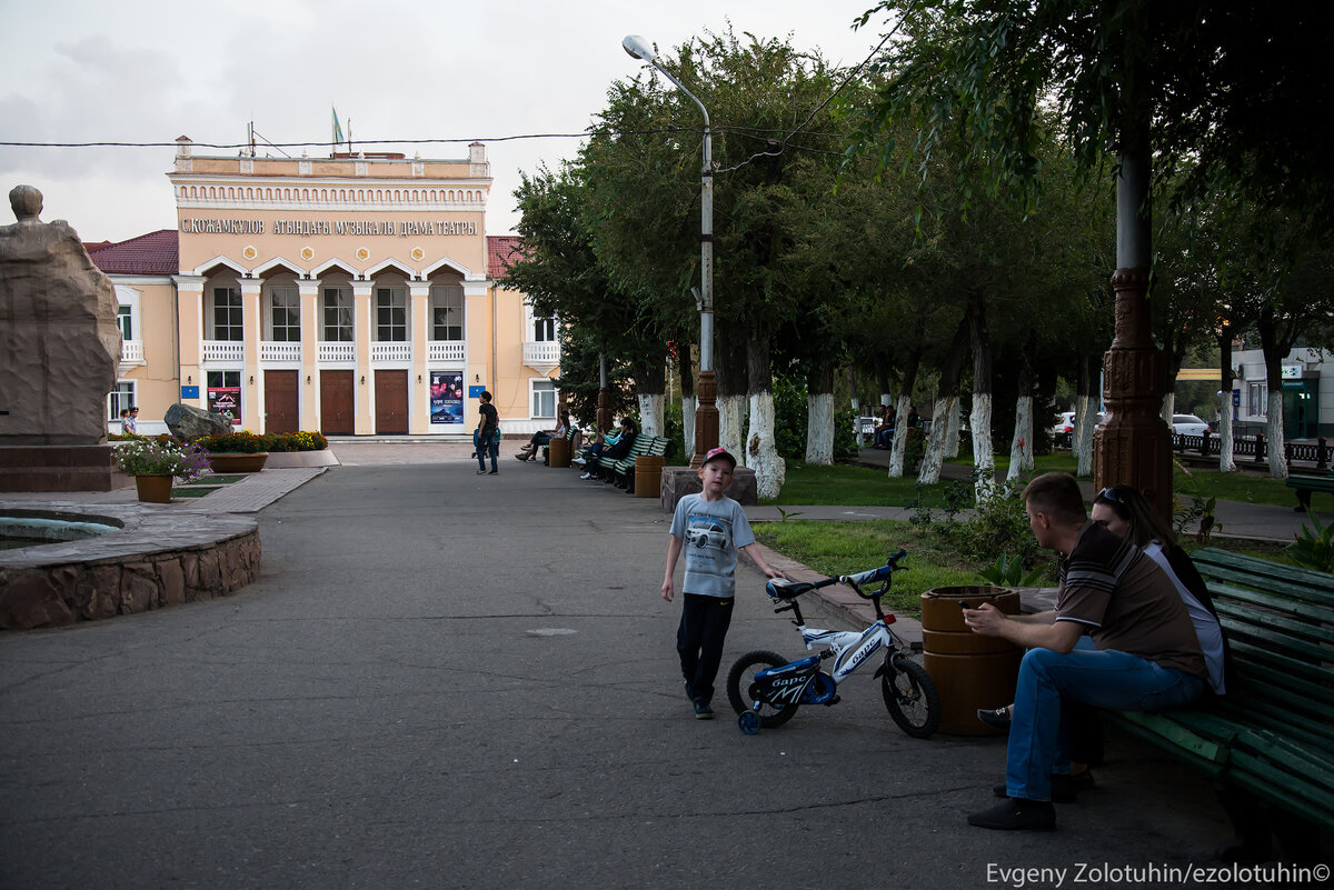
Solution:
[[[922,594],[922,666],[940,691],[940,730],[948,735],[999,735],[1005,730],[978,719],[978,709],[1014,701],[1023,649],[1007,640],[983,637],[963,624],[959,601],[976,609],[990,602],[1007,616],[1019,614],[1019,592],[968,585],[936,588]]]

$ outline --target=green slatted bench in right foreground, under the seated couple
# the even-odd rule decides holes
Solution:
[[[1194,707],[1109,718],[1214,777],[1225,802],[1241,790],[1298,817],[1302,833],[1334,829],[1334,576],[1214,548],[1191,558],[1229,638],[1233,686]]]

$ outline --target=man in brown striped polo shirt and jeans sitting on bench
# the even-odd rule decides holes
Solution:
[[[1038,544],[1062,557],[1061,590],[1055,612],[1010,617],[983,604],[963,613],[974,633],[1029,648],[1015,685],[1006,783],[996,789],[1007,799],[974,813],[968,825],[1050,831],[1053,774],[1069,781],[1070,770],[1063,702],[1182,707],[1199,698],[1209,674],[1171,581],[1143,550],[1089,521],[1073,476],[1039,476],[1023,500]]]

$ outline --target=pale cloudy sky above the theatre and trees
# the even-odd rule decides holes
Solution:
[[[880,23],[852,20],[872,0],[0,0],[0,141],[167,143],[155,148],[0,145],[0,187],[36,185],[43,220],[68,220],[84,241],[173,228],[165,173],[177,136],[241,144],[323,143],[332,111],[352,139],[460,140],[366,147],[454,159],[467,143],[582,133],[607,88],[639,63],[620,48],[638,33],[670,51],[723,32],[791,37],[856,65]],[[882,19],[883,21],[883,19]],[[688,84],[687,84],[688,85]],[[698,121],[691,121],[698,123]],[[714,121],[718,124],[719,121]],[[519,172],[555,168],[578,139],[487,143],[494,184],[487,232],[518,224]],[[196,155],[233,155],[196,148]],[[259,152],[260,156],[264,151]],[[276,149],[267,149],[280,156]],[[303,149],[284,149],[299,156]],[[5,217],[8,221],[8,217]]]

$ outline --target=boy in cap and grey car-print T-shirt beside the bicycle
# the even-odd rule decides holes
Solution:
[[[667,545],[667,574],[663,577],[663,600],[671,602],[676,560],[686,550],[686,578],[682,584],[680,628],[676,652],[680,673],[686,678],[686,695],[695,705],[698,719],[711,719],[714,678],[723,658],[723,641],[732,622],[732,598],[736,593],[736,552],[744,550],[755,566],[770,578],[783,573],[771,569],[755,546],[750,522],[742,505],[723,494],[732,481],[736,458],[723,448],[704,454],[699,478],[704,490],[687,494],[676,502],[671,520],[671,542]]]

